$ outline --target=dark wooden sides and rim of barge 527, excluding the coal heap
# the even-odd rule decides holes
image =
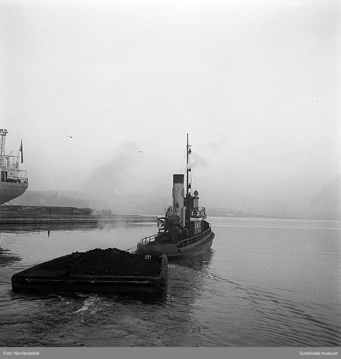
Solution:
[[[72,255],[80,255],[73,253]],[[162,256],[160,273],[157,276],[104,276],[104,275],[73,275],[67,271],[39,270],[56,260],[71,255],[55,258],[14,274],[11,278],[14,292],[107,292],[107,293],[146,293],[163,294],[167,285],[168,259]],[[153,256],[156,257],[156,256]],[[158,256],[160,257],[160,256]]]

